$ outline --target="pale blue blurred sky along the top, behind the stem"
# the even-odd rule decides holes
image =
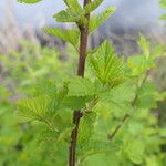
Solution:
[[[82,0],[81,0],[82,1]],[[162,13],[158,7],[159,0],[104,0],[100,10],[107,6],[116,6],[117,11],[112,21],[117,24],[141,25],[155,22]],[[12,4],[15,18],[21,25],[53,24],[52,15],[64,9],[63,0],[43,0],[40,3],[28,6],[18,3],[17,0],[0,0],[0,18],[6,13],[6,8]]]

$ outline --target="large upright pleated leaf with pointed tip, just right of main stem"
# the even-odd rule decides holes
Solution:
[[[89,55],[89,64],[103,84],[116,86],[124,81],[124,62],[117,58],[108,41]]]

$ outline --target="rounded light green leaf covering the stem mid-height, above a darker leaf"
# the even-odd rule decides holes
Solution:
[[[95,86],[87,79],[76,76],[69,84],[68,96],[91,96],[95,94]]]

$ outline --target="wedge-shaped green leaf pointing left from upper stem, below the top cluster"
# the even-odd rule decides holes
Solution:
[[[66,42],[70,42],[75,48],[79,43],[79,31],[77,30],[62,30],[59,28],[44,28],[43,31],[53,37],[58,37]]]

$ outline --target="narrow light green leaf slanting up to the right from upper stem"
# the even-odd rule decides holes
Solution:
[[[98,28],[106,19],[108,19],[114,12],[116,8],[115,7],[108,7],[100,14],[94,14],[90,19],[90,25],[89,25],[89,32],[90,34]]]

